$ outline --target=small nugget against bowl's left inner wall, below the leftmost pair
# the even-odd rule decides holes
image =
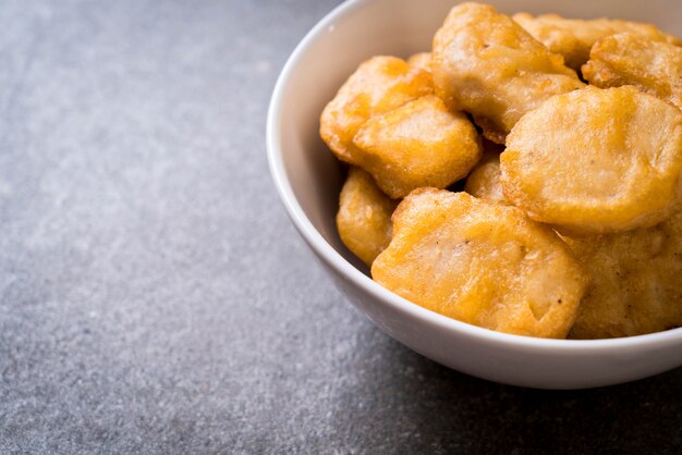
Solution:
[[[339,198],[337,228],[343,244],[367,266],[391,241],[391,214],[397,205],[367,172],[350,168]]]

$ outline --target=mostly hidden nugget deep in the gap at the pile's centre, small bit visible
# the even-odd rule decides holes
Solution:
[[[479,199],[509,205],[500,183],[500,153],[503,148],[484,140],[484,153],[466,177],[464,190]]]

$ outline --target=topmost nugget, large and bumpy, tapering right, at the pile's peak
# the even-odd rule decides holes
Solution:
[[[552,95],[584,84],[511,17],[478,3],[454,7],[434,37],[436,95],[474,115],[498,144],[516,121]]]

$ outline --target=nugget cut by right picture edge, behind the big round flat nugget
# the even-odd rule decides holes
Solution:
[[[602,88],[634,85],[682,109],[682,47],[633,34],[609,36],[592,48],[583,75]]]

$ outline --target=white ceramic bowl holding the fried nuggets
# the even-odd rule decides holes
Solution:
[[[430,49],[452,0],[355,0],[337,8],[284,66],[267,126],[272,177],[289,216],[349,299],[390,336],[442,365],[541,389],[616,384],[682,365],[682,329],[630,339],[540,340],[497,333],[414,305],[385,290],[341,244],[334,225],[342,168],[319,138],[319,114],[345,78],[376,54]],[[678,0],[491,1],[500,11],[556,12],[651,22],[682,36]]]

